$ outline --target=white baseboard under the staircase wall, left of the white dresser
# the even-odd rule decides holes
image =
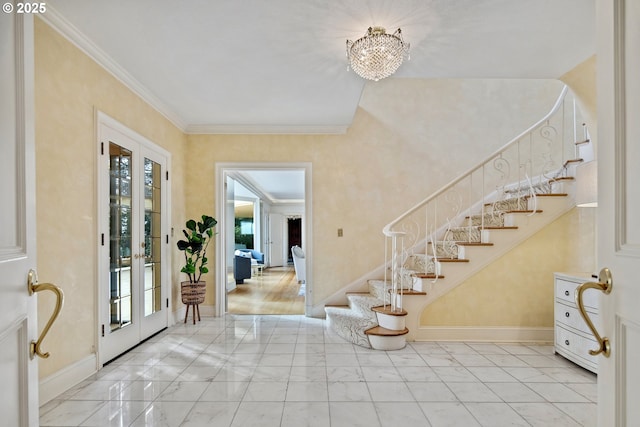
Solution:
[[[536,342],[553,343],[553,328],[423,326],[415,341]]]

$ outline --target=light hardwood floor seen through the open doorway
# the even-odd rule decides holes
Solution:
[[[293,267],[266,268],[227,294],[232,314],[304,314],[304,295]]]

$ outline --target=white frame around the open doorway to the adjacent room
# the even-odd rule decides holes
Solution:
[[[216,163],[215,165],[215,211],[218,219],[218,233],[216,234],[216,302],[214,315],[223,316],[227,307],[227,255],[225,242],[226,231],[226,177],[237,170],[304,170],[304,225],[302,227],[302,241],[305,242],[305,258],[307,260],[307,281],[305,287],[305,315],[310,316],[313,309],[313,212],[312,212],[312,181],[311,163],[309,162],[275,162],[275,163]]]

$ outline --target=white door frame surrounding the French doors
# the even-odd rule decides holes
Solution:
[[[167,326],[171,326],[174,323],[174,319],[172,316],[172,312],[173,312],[173,306],[172,306],[172,286],[171,286],[171,265],[172,265],[172,251],[170,250],[170,244],[171,244],[171,239],[169,237],[170,235],[170,224],[171,224],[171,179],[170,179],[170,174],[169,171],[171,170],[171,153],[167,150],[165,150],[164,148],[162,148],[161,146],[159,146],[158,144],[154,143],[153,141],[145,138],[144,136],[140,135],[139,133],[135,132],[134,130],[128,128],[127,126],[125,126],[124,124],[120,123],[119,121],[117,121],[116,119],[114,119],[113,117],[107,115],[106,113],[100,111],[100,110],[95,110],[95,122],[96,124],[96,159],[97,159],[97,173],[98,173],[98,177],[96,179],[96,200],[95,200],[95,204],[96,204],[96,214],[97,214],[97,244],[98,244],[98,251],[97,251],[97,256],[98,256],[98,260],[97,260],[97,280],[96,280],[96,292],[95,292],[95,300],[94,300],[94,304],[96,307],[96,312],[97,312],[97,322],[96,322],[96,359],[97,359],[97,366],[98,369],[102,368],[102,366],[104,365],[104,363],[108,362],[109,360],[105,360],[105,356],[104,356],[104,345],[103,345],[103,335],[102,335],[102,324],[103,321],[105,319],[105,317],[108,315],[107,310],[104,308],[104,304],[102,304],[102,301],[100,300],[100,297],[102,295],[102,290],[107,286],[107,284],[105,283],[106,277],[108,277],[108,274],[104,274],[105,271],[108,272],[109,270],[109,265],[108,265],[108,261],[104,259],[104,257],[102,256],[103,253],[103,248],[101,245],[101,241],[102,241],[102,237],[101,234],[104,233],[105,235],[105,239],[108,238],[108,218],[109,218],[109,206],[108,204],[106,204],[106,206],[100,201],[100,197],[102,196],[102,194],[106,191],[105,190],[105,185],[108,187],[109,183],[108,181],[105,182],[105,180],[102,177],[102,168],[100,167],[100,162],[102,161],[102,153],[101,153],[101,144],[104,142],[104,150],[108,150],[108,141],[103,141],[102,139],[102,135],[101,135],[101,127],[107,126],[110,127],[111,129],[120,132],[122,134],[124,134],[125,136],[127,136],[128,138],[132,139],[134,142],[138,143],[141,147],[143,147],[144,149],[147,149],[149,151],[153,151],[155,153],[157,153],[158,155],[164,157],[166,159],[166,179],[164,179],[164,185],[166,188],[166,196],[163,198],[163,200],[161,201],[162,203],[162,210],[165,213],[165,215],[163,215],[162,217],[162,221],[161,221],[161,227],[162,227],[162,235],[163,235],[163,240],[165,240],[165,242],[163,242],[163,246],[165,247],[165,250],[163,251],[163,262],[162,262],[162,266],[161,266],[161,270],[162,270],[162,276],[164,278],[164,283],[162,284],[163,287],[163,293],[165,298],[167,299],[167,303],[165,304],[165,307],[163,307],[164,310],[166,310],[166,325]],[[108,189],[108,188],[107,188]]]

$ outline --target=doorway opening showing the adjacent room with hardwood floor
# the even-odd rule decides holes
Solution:
[[[298,282],[291,247],[309,272],[311,164],[217,164],[216,182],[216,315],[308,313],[312,284]]]

